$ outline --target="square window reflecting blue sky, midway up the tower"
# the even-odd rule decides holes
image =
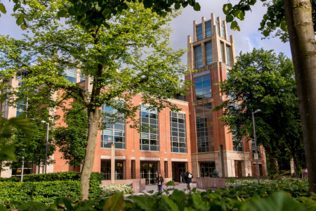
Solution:
[[[211,98],[211,75],[195,78],[195,100]]]

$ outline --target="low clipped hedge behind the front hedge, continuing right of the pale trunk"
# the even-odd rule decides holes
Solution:
[[[23,181],[79,181],[81,172],[56,172],[47,174],[27,174],[23,177]],[[92,172],[90,177],[89,198],[95,200],[103,193],[100,184],[103,180],[103,174]]]

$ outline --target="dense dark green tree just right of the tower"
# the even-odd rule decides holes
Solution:
[[[235,132],[238,139],[253,138],[252,112],[256,114],[257,143],[265,148],[272,174],[278,172],[280,149],[289,148],[293,158],[302,143],[294,68],[282,53],[256,50],[240,53],[237,63],[219,83],[220,91],[230,96],[216,105],[223,110],[220,120]],[[293,146],[291,146],[293,145]],[[298,160],[294,159],[296,167]]]

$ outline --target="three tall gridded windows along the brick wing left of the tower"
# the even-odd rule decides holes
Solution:
[[[117,110],[106,106],[102,107],[102,111],[110,115],[117,112]],[[159,151],[159,113],[156,109],[140,106],[139,116],[140,126],[152,128],[140,132],[140,150]],[[103,119],[103,122],[106,122],[106,120]],[[126,148],[125,122],[121,121],[115,124],[106,124],[105,126],[107,128],[101,130],[101,148],[110,148],[113,143],[115,148]],[[171,151],[187,153],[185,114],[170,112],[170,129]]]

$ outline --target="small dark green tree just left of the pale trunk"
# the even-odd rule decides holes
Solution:
[[[55,143],[62,153],[62,159],[67,160],[70,166],[83,164],[86,140],[88,135],[88,119],[86,110],[79,103],[65,110],[67,127],[56,127]]]

